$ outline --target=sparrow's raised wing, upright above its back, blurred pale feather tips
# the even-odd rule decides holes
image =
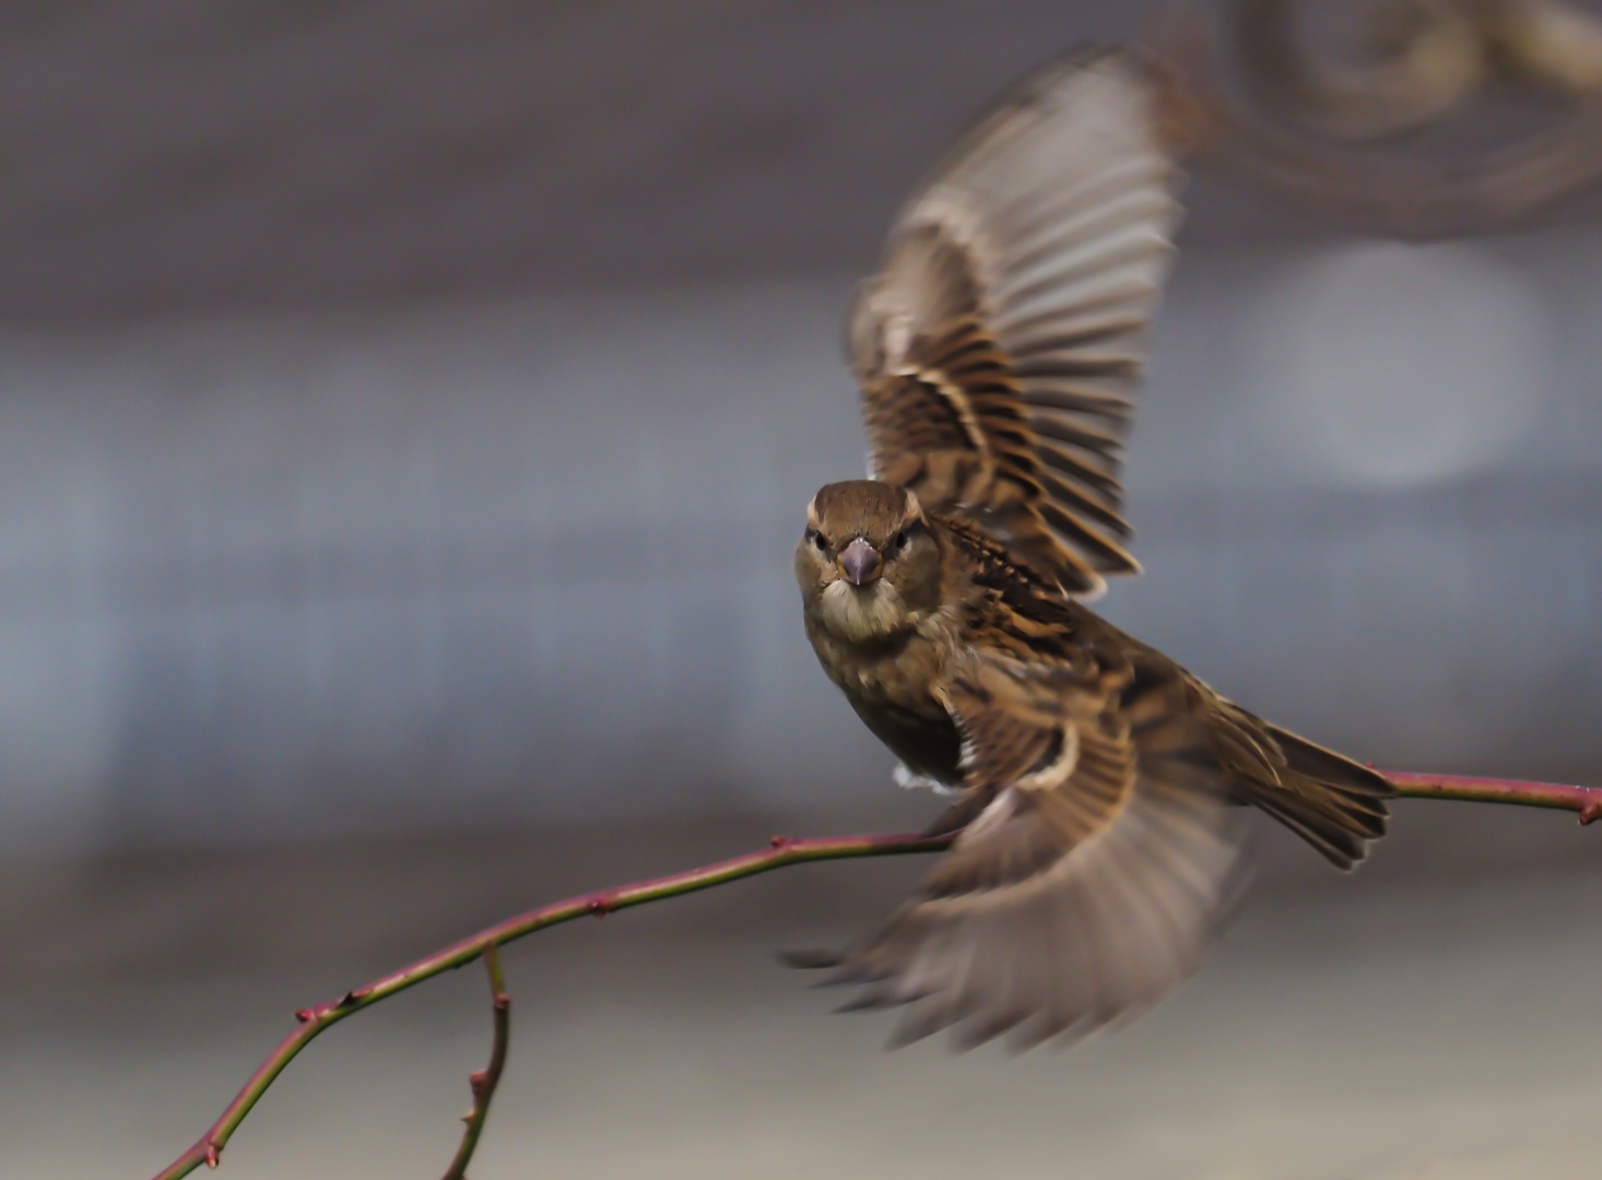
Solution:
[[[1072,594],[1136,573],[1118,484],[1179,221],[1158,67],[1080,54],[956,146],[851,317],[875,474]]]

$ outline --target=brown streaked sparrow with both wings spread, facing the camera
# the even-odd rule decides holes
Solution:
[[[958,139],[847,317],[871,469],[807,504],[806,634],[899,780],[956,797],[913,895],[793,962],[900,1009],[892,1046],[1139,1017],[1240,897],[1251,809],[1341,869],[1386,833],[1381,773],[1086,605],[1141,568],[1120,474],[1185,134],[1155,54],[1054,59]]]

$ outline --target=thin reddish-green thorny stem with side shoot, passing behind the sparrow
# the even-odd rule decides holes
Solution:
[[[1424,775],[1410,772],[1381,772],[1397,786],[1397,793],[1410,799],[1455,799],[1463,802],[1512,804],[1519,807],[1548,807],[1554,810],[1575,812],[1580,823],[1589,825],[1602,820],[1602,789],[1591,786],[1564,786],[1559,783],[1532,783],[1514,778],[1466,778],[1461,775]],[[266,1062],[250,1076],[244,1089],[223,1111],[221,1118],[191,1146],[175,1159],[167,1169],[155,1175],[155,1180],[179,1180],[194,1172],[202,1164],[218,1166],[218,1159],[229,1138],[245,1121],[261,1095],[277,1079],[284,1068],[295,1060],[300,1052],[332,1025],[344,1020],[352,1012],[360,1012],[380,1001],[412,988],[423,980],[442,975],[447,970],[463,967],[474,959],[485,959],[490,973],[490,988],[495,1004],[495,1047],[490,1054],[490,1065],[484,1073],[473,1076],[473,1110],[468,1114],[468,1130],[463,1134],[457,1159],[452,1161],[445,1180],[461,1180],[468,1161],[477,1146],[484,1121],[489,1116],[490,1098],[500,1081],[501,1068],[506,1062],[506,1041],[509,1026],[509,1001],[505,983],[500,977],[497,948],[509,941],[545,930],[551,925],[570,922],[575,917],[591,914],[602,917],[615,909],[662,901],[670,897],[682,897],[703,889],[729,884],[759,873],[785,868],[787,865],[804,865],[822,860],[847,860],[862,857],[896,857],[920,852],[940,852],[952,842],[952,836],[926,837],[916,833],[892,836],[839,836],[831,839],[791,841],[775,836],[771,847],[751,852],[734,860],[726,860],[705,868],[694,868],[674,873],[655,881],[644,881],[634,885],[622,885],[598,893],[556,901],[554,905],[530,909],[525,914],[511,917],[487,930],[481,930],[471,938],[465,938],[453,946],[418,959],[409,967],[384,975],[344,993],[340,999],[319,1004],[312,1009],[301,1009],[295,1013],[300,1028],[290,1033],[268,1057]]]

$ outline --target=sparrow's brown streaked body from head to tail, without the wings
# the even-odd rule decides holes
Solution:
[[[811,532],[820,540],[828,541],[831,530],[846,544],[859,536],[894,536],[894,530],[873,527],[875,509],[886,522],[905,527],[900,520],[907,519],[907,500],[897,504],[897,490],[883,484],[835,484],[819,495],[825,511],[817,512],[819,525]],[[859,508],[863,504],[867,512]],[[888,572],[867,586],[851,586],[841,578],[833,583],[839,591],[809,596],[803,612],[823,671],[908,770],[934,783],[968,786],[963,735],[948,704],[947,680],[976,661],[1012,661],[1105,692],[1117,709],[1126,709],[1136,692],[1165,687],[1173,703],[1166,720],[1195,730],[1190,757],[1198,770],[1216,777],[1234,802],[1256,802],[1270,813],[1302,801],[1309,815],[1296,826],[1341,868],[1362,860],[1365,842],[1384,834],[1386,812],[1378,801],[1391,788],[1378,773],[1246,712],[1157,648],[1014,562],[979,528],[915,511],[934,560],[912,570],[899,586]],[[847,517],[843,527],[830,519],[838,516]],[[806,540],[796,554],[803,584],[812,573],[812,552],[820,552],[819,546]],[[915,580],[923,584],[913,584]],[[857,608],[855,600],[870,596],[892,599],[896,605],[878,612]],[[865,616],[876,616],[879,624],[863,628]],[[1134,730],[1137,756],[1142,743],[1150,741],[1149,730]],[[1314,765],[1312,751],[1328,764]],[[1155,749],[1147,751],[1147,757],[1153,754]],[[971,818],[976,809],[988,805],[998,786],[969,791],[953,815]],[[1320,804],[1328,815],[1310,813]],[[956,826],[937,823],[934,829]]]

